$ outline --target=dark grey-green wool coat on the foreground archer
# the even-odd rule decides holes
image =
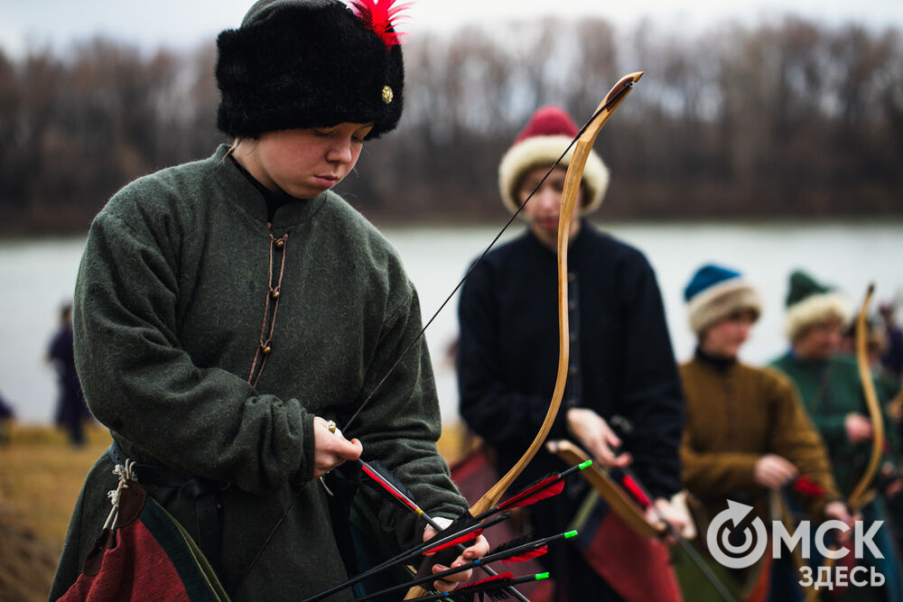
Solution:
[[[233,599],[299,600],[346,578],[312,479],[313,417],[348,421],[421,329],[419,301],[383,236],[331,192],[279,208],[268,228],[265,199],[226,151],[133,182],[94,220],[76,285],[76,362],[91,411],[129,458],[231,484],[221,580]],[[257,355],[252,385],[280,273],[271,352]],[[437,453],[440,431],[421,338],[345,434],[424,510],[454,517],[467,505]],[[104,523],[112,468],[102,457],[88,475],[51,599]],[[197,537],[188,495],[147,488]],[[386,542],[421,539],[413,515],[377,500]]]

